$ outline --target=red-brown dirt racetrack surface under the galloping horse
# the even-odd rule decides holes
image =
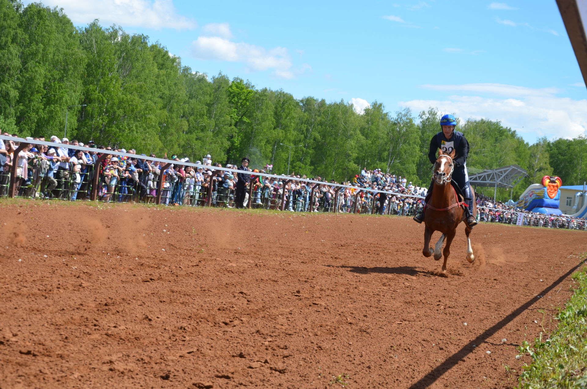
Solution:
[[[445,278],[408,217],[91,205],[0,203],[2,389],[511,387],[587,251],[461,225]]]

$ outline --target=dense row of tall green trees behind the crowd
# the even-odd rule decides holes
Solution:
[[[82,29],[59,9],[0,0],[0,128],[22,136],[69,139],[176,153],[195,161],[251,158],[274,172],[347,180],[362,167],[430,182],[427,149],[446,112],[386,112],[373,102],[358,114],[343,100],[295,99],[239,78],[208,76],[181,65],[160,43],[97,21]],[[86,105],[86,106],[80,106]],[[528,145],[498,121],[467,120],[469,167],[517,164],[528,170],[519,194],[543,175],[565,185],[587,178],[585,138]],[[282,143],[284,145],[282,145]],[[488,193],[492,189],[488,189]],[[500,199],[510,193],[502,190]]]

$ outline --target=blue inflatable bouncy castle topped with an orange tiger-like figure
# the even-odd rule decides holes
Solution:
[[[542,182],[528,186],[515,207],[544,214],[562,214],[558,209],[562,180],[559,177],[542,177]]]

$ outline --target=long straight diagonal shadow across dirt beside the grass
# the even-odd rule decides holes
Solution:
[[[518,317],[519,314],[521,314],[523,311],[528,310],[532,304],[540,300],[546,293],[557,287],[562,281],[566,279],[566,277],[571,276],[573,271],[579,269],[579,267],[581,267],[581,265],[584,263],[587,263],[587,259],[580,261],[576,266],[573,266],[571,270],[567,271],[565,274],[559,277],[558,280],[554,281],[554,283],[552,283],[550,286],[540,291],[536,297],[532,297],[532,299],[526,301],[524,304],[516,308],[508,316],[498,321],[498,323],[495,323],[492,327],[487,328],[484,333],[465,344],[463,348],[444,360],[443,363],[435,367],[432,371],[430,371],[430,373],[424,375],[424,377],[420,378],[420,380],[412,384],[409,389],[427,388],[432,385],[434,382],[436,382],[436,380],[438,380],[438,378],[441,377],[441,375],[450,370],[450,368],[454,367],[454,365],[456,365],[459,361],[463,361],[464,357],[466,357],[468,354],[472,353],[476,345],[486,343],[488,338],[493,336],[493,334],[501,330],[501,328],[503,328],[506,324],[510,323],[512,320]]]

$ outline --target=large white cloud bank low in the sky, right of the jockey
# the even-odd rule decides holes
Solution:
[[[536,137],[575,138],[587,135],[587,100],[556,96],[555,88],[525,88],[501,84],[423,85],[444,92],[479,92],[499,97],[449,95],[444,100],[411,100],[399,102],[415,112],[436,107],[441,112],[454,112],[462,119],[500,120],[516,130],[528,142]]]

